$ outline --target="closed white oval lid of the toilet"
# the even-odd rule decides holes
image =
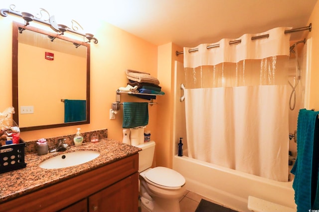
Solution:
[[[160,186],[181,187],[185,184],[185,178],[177,171],[166,167],[155,167],[145,174],[145,177]]]

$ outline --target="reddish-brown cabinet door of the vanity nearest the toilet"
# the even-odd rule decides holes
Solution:
[[[89,212],[138,212],[139,173],[89,197]]]

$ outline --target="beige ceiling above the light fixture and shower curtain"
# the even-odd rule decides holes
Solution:
[[[3,0],[1,0],[3,2]],[[5,0],[12,1],[12,0]],[[28,2],[15,0],[18,3]],[[32,5],[35,5],[32,0]],[[49,11],[55,6],[74,19],[105,20],[156,45],[181,47],[215,43],[279,26],[299,28],[307,22],[317,0],[37,0]],[[84,3],[87,2],[87,3]],[[50,8],[49,8],[50,7]],[[56,13],[54,13],[56,14]],[[302,32],[291,40],[302,39]],[[101,38],[100,38],[101,39]]]

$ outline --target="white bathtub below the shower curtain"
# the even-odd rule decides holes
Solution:
[[[187,156],[173,156],[173,169],[186,179],[186,189],[231,209],[246,212],[248,197],[296,209],[293,181],[277,182]]]

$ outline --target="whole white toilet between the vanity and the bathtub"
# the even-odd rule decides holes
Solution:
[[[136,145],[139,151],[139,173],[142,212],[180,212],[179,198],[185,192],[185,178],[166,168],[151,168],[155,142]]]

